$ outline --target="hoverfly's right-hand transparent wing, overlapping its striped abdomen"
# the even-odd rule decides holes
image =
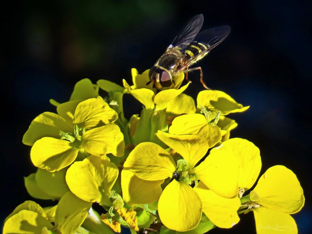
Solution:
[[[188,60],[187,64],[191,65],[198,60],[202,59],[204,56],[208,54],[214,47],[219,45],[224,39],[230,34],[231,27],[230,26],[221,26],[215,28],[209,28],[197,34],[194,38],[194,43],[203,44],[206,49],[202,49],[200,52],[194,52],[193,56]],[[192,42],[192,43],[193,43]],[[186,50],[188,47],[186,48]]]

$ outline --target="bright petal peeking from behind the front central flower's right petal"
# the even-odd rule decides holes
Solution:
[[[261,170],[260,150],[252,142],[241,138],[229,139],[221,146],[213,148],[211,152],[227,150],[237,157],[240,165],[238,186],[248,190],[256,182]]]

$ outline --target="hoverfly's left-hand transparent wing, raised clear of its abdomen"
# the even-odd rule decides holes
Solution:
[[[171,44],[173,46],[182,47],[183,45],[193,41],[199,30],[202,28],[203,22],[204,17],[202,14],[194,16],[185,24],[182,31],[178,33]]]

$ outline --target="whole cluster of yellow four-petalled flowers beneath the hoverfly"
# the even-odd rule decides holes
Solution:
[[[121,227],[133,234],[202,234],[231,228],[250,211],[257,233],[271,233],[276,223],[278,231],[297,233],[290,214],[305,198],[295,174],[272,166],[254,187],[260,151],[230,138],[237,123],[227,115],[249,106],[218,90],[199,92],[195,104],[183,93],[189,83],[180,87],[183,73],[160,91],[146,85],[148,73],[132,69],[133,85],[123,80],[124,87],[83,79],[68,102],[50,100],[56,113],[38,115],[22,142],[32,147],[38,168],[25,177],[28,193],[57,204],[20,204],[3,234],[109,234]],[[143,105],[129,120],[123,95]]]

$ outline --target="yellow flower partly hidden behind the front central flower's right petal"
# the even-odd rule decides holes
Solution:
[[[237,184],[241,192],[239,195],[251,188],[261,169],[259,149],[246,139],[233,138],[213,148],[207,158],[216,153],[220,155],[220,158],[224,158],[223,154],[232,154],[239,162],[238,175],[235,177],[236,181],[233,182],[233,184]],[[195,173],[196,170],[195,168]],[[238,223],[240,219],[237,210],[241,202],[237,197],[237,193],[232,198],[219,196],[215,191],[208,189],[202,181],[198,183],[194,190],[202,200],[203,212],[216,226],[230,228]]]

